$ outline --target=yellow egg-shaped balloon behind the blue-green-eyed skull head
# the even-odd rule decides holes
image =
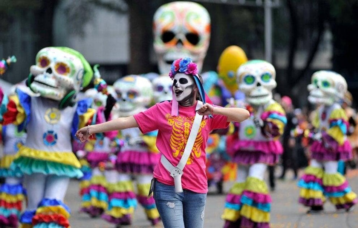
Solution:
[[[236,71],[245,62],[247,62],[245,51],[236,45],[228,46],[220,55],[217,66],[218,75],[232,95],[238,90]]]

